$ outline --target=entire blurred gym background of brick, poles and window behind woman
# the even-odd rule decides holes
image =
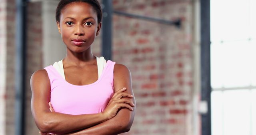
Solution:
[[[38,135],[30,76],[64,58],[59,0],[0,0],[0,135]],[[96,56],[132,73],[124,135],[256,135],[256,0],[100,0]]]

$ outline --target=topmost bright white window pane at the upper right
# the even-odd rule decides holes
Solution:
[[[211,41],[250,37],[250,0],[211,0],[210,2]]]

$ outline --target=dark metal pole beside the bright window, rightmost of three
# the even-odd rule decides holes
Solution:
[[[201,100],[208,112],[202,114],[202,135],[211,135],[210,0],[201,0]]]

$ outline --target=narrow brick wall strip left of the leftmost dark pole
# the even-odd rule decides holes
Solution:
[[[15,125],[15,36],[16,36],[16,5],[15,0],[6,0],[6,135],[14,135]]]

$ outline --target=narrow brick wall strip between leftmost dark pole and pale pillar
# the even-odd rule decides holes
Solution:
[[[26,76],[26,135],[38,135],[39,130],[32,117],[30,102],[30,77],[38,69],[43,68],[42,54],[42,2],[28,4],[27,22],[27,76]]]

